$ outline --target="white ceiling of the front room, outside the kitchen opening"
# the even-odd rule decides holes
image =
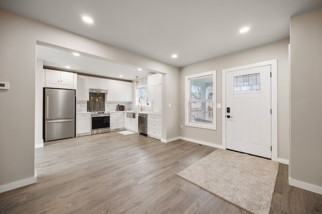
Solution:
[[[289,37],[290,17],[321,0],[1,0],[0,7],[183,67]],[[90,16],[92,25],[81,17]],[[249,26],[246,34],[241,27]],[[171,55],[176,53],[177,59]]]

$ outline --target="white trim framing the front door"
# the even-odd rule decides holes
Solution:
[[[272,160],[277,161],[277,59],[222,70],[222,147],[226,148],[226,73],[260,66],[271,66]]]

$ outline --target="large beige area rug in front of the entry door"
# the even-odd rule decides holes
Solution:
[[[279,163],[217,149],[177,173],[251,213],[269,213]]]

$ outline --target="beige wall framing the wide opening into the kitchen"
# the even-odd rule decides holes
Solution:
[[[2,56],[0,58],[0,79],[11,83],[10,90],[0,92],[1,102],[6,103],[6,105],[2,105],[0,111],[0,118],[2,118],[0,191],[15,181],[34,177],[37,43],[52,44],[88,53],[98,58],[106,58],[114,62],[165,73],[163,96],[174,104],[165,113],[169,118],[175,118],[179,114],[178,88],[171,88],[171,85],[167,85],[167,83],[176,83],[174,84],[176,86],[179,82],[178,68],[32,21],[2,9],[0,9],[0,32]],[[166,102],[163,104],[163,109],[165,109]],[[178,120],[167,120],[165,117],[164,114],[163,129],[165,133],[162,137],[178,136]]]

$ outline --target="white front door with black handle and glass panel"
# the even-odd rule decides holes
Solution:
[[[271,65],[226,72],[226,148],[271,158]]]

